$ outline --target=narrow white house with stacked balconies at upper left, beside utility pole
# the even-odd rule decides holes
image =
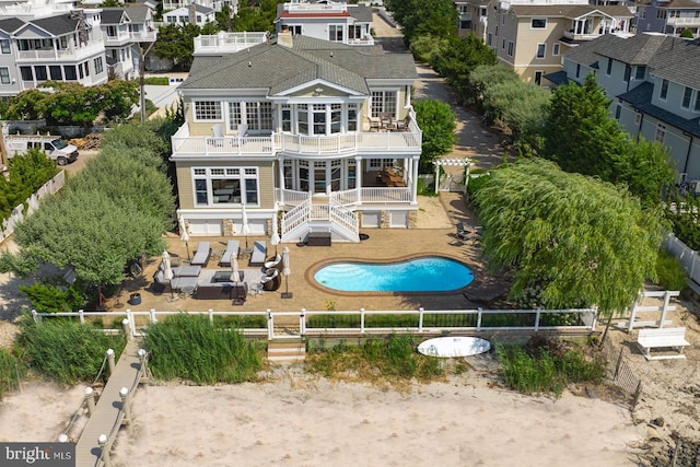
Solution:
[[[136,79],[141,47],[156,39],[151,9],[143,4],[105,8],[95,22],[104,37],[109,69],[125,80]]]

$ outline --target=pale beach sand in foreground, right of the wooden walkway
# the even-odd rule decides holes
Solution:
[[[117,466],[625,466],[644,434],[621,405],[524,396],[471,372],[407,390],[291,373],[147,386],[132,407]]]

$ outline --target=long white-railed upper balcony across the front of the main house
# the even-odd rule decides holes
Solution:
[[[210,136],[191,135],[185,122],[173,136],[173,159],[197,156],[269,155],[373,155],[420,154],[422,133],[416,124],[415,114],[406,119],[392,118],[376,126],[366,122],[361,131],[339,132],[324,136],[271,132],[269,136],[223,136],[212,126]],[[217,135],[220,133],[220,135]]]

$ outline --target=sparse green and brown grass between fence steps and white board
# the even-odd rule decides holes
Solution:
[[[369,339],[360,346],[339,343],[331,349],[310,348],[306,371],[325,377],[370,382],[430,381],[445,376],[438,359],[416,351],[419,338],[389,335]]]

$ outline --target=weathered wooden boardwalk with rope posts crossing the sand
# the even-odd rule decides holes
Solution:
[[[115,365],[114,373],[109,375],[94,413],[83,429],[80,440],[75,444],[75,467],[94,467],[102,465],[102,447],[97,440],[100,435],[107,435],[106,450],[112,448],[112,442],[121,427],[124,411],[121,410],[121,397],[119,390],[122,387],[131,392],[141,378],[141,362],[139,360],[138,339],[127,341],[119,361]]]

